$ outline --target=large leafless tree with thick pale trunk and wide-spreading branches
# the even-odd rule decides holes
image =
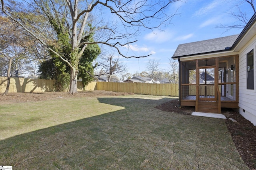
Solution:
[[[121,49],[125,45],[137,41],[135,38],[139,34],[140,27],[153,29],[170,24],[176,11],[171,13],[169,6],[179,0],[128,0],[125,2],[121,0],[33,0],[34,4],[32,4],[32,0],[23,0],[23,2],[27,2],[26,7],[32,8],[31,6],[34,5],[34,11],[41,12],[38,16],[45,16],[52,25],[56,24],[56,31],[63,33],[68,31],[70,37],[67,41],[72,47],[71,53],[68,55],[58,53],[43,39],[42,33],[46,31],[42,30],[43,23],[36,25],[31,21],[35,25],[28,27],[28,20],[25,22],[21,20],[20,13],[5,1],[7,0],[1,0],[4,14],[19,23],[51,53],[60,57],[70,66],[69,93],[74,94],[77,92],[78,61],[88,44],[107,45],[126,58],[146,57],[126,56],[121,53]],[[110,21],[111,18],[113,18],[112,21]],[[30,18],[30,20],[32,19]],[[92,19],[94,19],[93,22]],[[92,39],[95,41],[84,39],[92,33],[94,33]]]

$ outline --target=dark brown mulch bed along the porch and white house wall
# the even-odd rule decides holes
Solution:
[[[195,107],[179,107],[178,100],[171,100],[156,106],[156,109],[184,115],[191,115],[192,111],[195,111]],[[222,109],[222,114],[227,117],[225,123],[240,156],[250,170],[256,170],[256,126],[232,109],[224,108]],[[229,118],[237,122],[233,122]]]

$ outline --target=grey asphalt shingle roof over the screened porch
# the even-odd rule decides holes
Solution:
[[[180,44],[172,57],[182,57],[225,50],[226,47],[232,47],[238,36],[239,35],[230,35],[227,37]]]

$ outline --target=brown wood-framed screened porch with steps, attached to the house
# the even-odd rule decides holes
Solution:
[[[181,61],[180,104],[238,108],[238,56]],[[206,106],[205,106],[206,107]],[[214,106],[215,107],[215,106]],[[216,112],[216,111],[215,111]]]

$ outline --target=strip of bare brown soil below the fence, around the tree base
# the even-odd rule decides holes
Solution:
[[[13,104],[20,102],[34,102],[40,100],[58,100],[62,98],[100,97],[100,96],[125,96],[134,93],[111,92],[105,90],[94,90],[78,92],[70,95],[67,92],[43,92],[43,93],[9,93],[7,96],[0,95],[1,104]]]

